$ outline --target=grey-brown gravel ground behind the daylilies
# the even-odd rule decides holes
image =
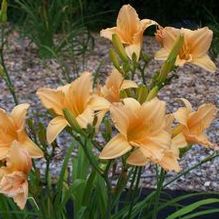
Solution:
[[[87,62],[84,69],[95,71],[100,63],[104,63],[100,67],[100,76],[105,76],[110,70],[108,61],[109,41],[100,38],[97,34],[95,37],[95,49],[87,57]],[[14,33],[9,38],[9,47],[6,50],[6,65],[8,66],[11,79],[15,84],[16,91],[19,95],[20,102],[28,102],[31,104],[29,115],[43,115],[45,110],[41,106],[35,93],[39,87],[49,86],[57,87],[60,85],[59,77],[61,76],[61,68],[54,61],[42,61],[38,58],[37,50],[34,46],[29,46],[27,39],[20,39],[17,33]],[[145,37],[144,49],[149,55],[153,55],[159,46],[152,37]],[[69,68],[72,66],[72,60],[66,60]],[[150,61],[147,71],[155,72],[160,67],[160,62]],[[218,66],[218,62],[217,62]],[[160,98],[165,100],[168,109],[175,111],[179,106],[177,98],[185,97],[193,104],[194,108],[205,102],[211,102],[219,106],[219,71],[215,74],[204,71],[195,66],[187,65],[182,69],[178,69],[178,79],[174,79],[171,85],[166,86]],[[0,107],[11,110],[13,101],[5,87],[5,84],[0,80]],[[38,117],[38,119],[40,119]],[[42,119],[42,118],[41,118]],[[214,143],[219,143],[219,117],[208,130],[210,140]],[[67,144],[66,135],[62,134],[59,138],[61,147],[57,149],[55,160],[51,165],[53,177],[59,174],[60,165],[62,163],[63,154],[66,151]],[[213,153],[213,151],[203,148],[199,145],[193,146],[192,150],[186,154],[181,160],[181,166],[188,168],[204,157]],[[38,166],[44,169],[44,159],[38,161]],[[168,173],[167,180],[170,180],[174,173]],[[145,187],[153,187],[155,185],[154,166],[145,167],[142,177],[142,183]],[[182,190],[217,190],[219,191],[219,158],[214,159],[195,169],[185,177],[181,177],[175,183],[169,186],[170,189]]]

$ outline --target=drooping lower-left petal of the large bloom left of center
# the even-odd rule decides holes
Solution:
[[[51,144],[58,134],[68,125],[66,119],[62,116],[57,116],[49,122],[46,132],[46,138],[49,144]]]

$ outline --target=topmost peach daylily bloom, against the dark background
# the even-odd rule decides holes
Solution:
[[[143,33],[151,25],[157,24],[153,20],[140,20],[135,9],[130,5],[124,5],[119,11],[116,27],[107,28],[100,32],[100,36],[109,40],[113,34],[117,34],[120,41],[126,45],[127,55],[132,58],[135,53],[139,58],[143,42]]]

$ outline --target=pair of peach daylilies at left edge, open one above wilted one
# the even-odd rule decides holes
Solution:
[[[10,114],[0,109],[0,193],[23,209],[28,196],[31,158],[43,157],[40,148],[25,132],[29,104],[17,105]]]

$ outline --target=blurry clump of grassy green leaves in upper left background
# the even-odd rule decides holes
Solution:
[[[41,57],[55,57],[66,50],[80,55],[87,50],[87,42],[80,41],[81,35],[90,37],[83,24],[81,1],[16,0],[16,3],[26,14],[22,31],[37,45]],[[55,37],[57,33],[60,38]]]

